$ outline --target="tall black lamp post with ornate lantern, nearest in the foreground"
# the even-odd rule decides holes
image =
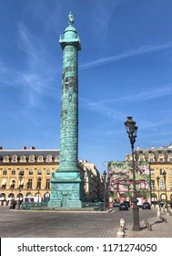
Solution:
[[[135,174],[135,155],[134,155],[134,144],[137,138],[137,129],[136,122],[133,120],[131,116],[127,117],[125,122],[126,125],[126,133],[128,134],[130,144],[131,144],[131,151],[132,151],[132,163],[133,163],[133,190],[134,190],[134,197],[133,201],[133,230],[140,230],[139,225],[139,209],[137,206],[137,188],[136,188],[136,174]]]

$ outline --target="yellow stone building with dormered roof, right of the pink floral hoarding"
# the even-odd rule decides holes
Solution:
[[[150,169],[151,201],[172,201],[172,144],[156,148],[137,147],[137,162],[147,161]],[[132,161],[132,155],[126,155],[126,161]],[[164,176],[164,171],[166,176]]]

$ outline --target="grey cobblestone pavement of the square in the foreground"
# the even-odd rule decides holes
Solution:
[[[133,211],[24,211],[0,208],[1,238],[116,238],[120,219],[126,219],[126,238],[172,238],[172,216],[157,219],[157,211],[139,210],[140,231],[132,230]],[[148,230],[147,219],[152,230]]]

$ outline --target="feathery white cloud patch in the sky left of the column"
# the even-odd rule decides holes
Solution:
[[[1,85],[20,89],[19,97],[27,107],[43,107],[43,96],[57,99],[57,87],[54,85],[57,69],[50,65],[44,43],[23,25],[18,26],[18,47],[25,52],[23,66],[13,69],[8,64],[0,62]],[[52,64],[52,63],[51,63]]]

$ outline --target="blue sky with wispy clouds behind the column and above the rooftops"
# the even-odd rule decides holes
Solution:
[[[78,158],[125,160],[172,143],[171,0],[0,0],[0,145],[59,148],[62,50],[69,12],[81,39]]]

